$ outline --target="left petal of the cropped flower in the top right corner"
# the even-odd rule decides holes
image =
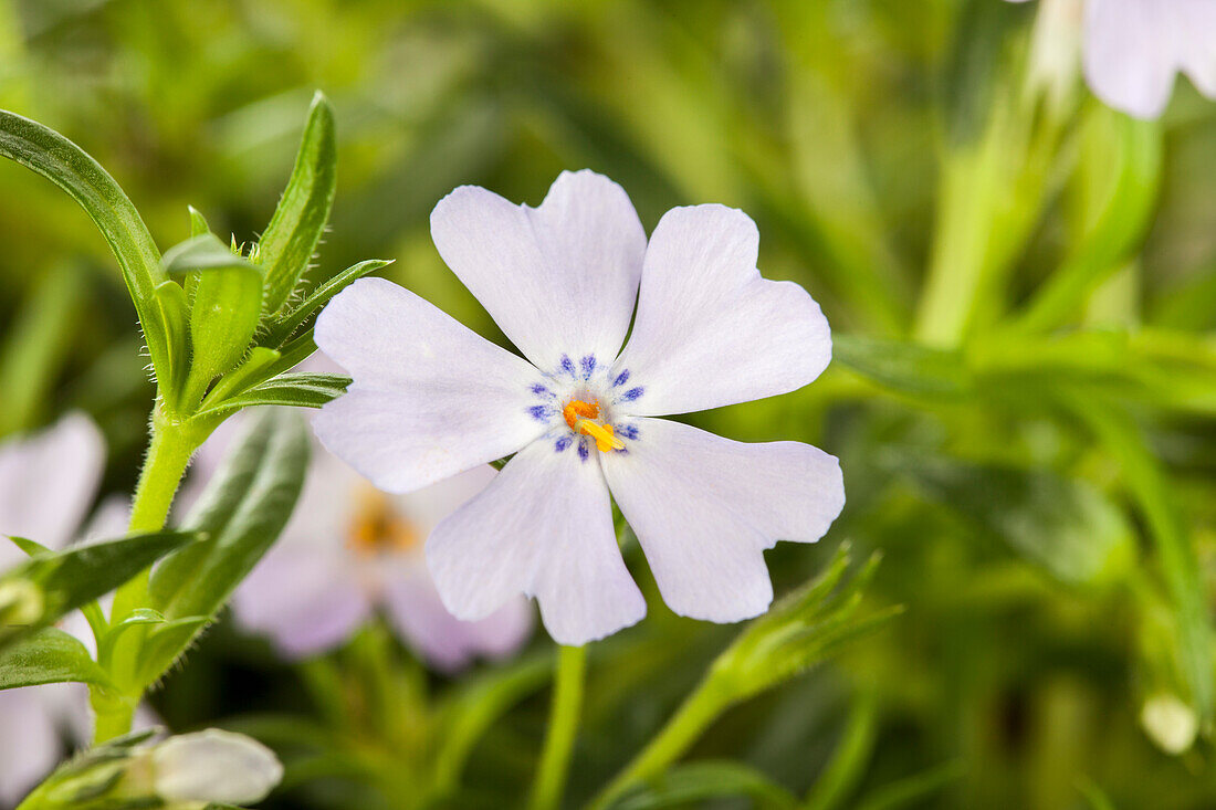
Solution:
[[[1167,5],[1160,0],[1086,4],[1086,81],[1096,96],[1137,118],[1160,116],[1173,90],[1178,55]]]

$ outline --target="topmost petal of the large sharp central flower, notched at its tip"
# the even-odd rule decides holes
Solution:
[[[546,371],[563,353],[617,355],[629,330],[646,231],[629,196],[593,171],[563,171],[540,208],[461,186],[430,214],[447,266],[502,332]]]

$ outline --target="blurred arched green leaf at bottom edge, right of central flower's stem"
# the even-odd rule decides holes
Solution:
[[[662,810],[722,797],[749,797],[756,808],[795,808],[794,795],[743,763],[708,761],[675,767],[648,787],[623,797],[613,810]]]

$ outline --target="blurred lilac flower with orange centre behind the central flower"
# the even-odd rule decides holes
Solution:
[[[310,361],[309,371],[330,371]],[[203,445],[188,501],[231,443],[235,423]],[[427,572],[432,528],[494,478],[475,467],[410,495],[389,495],[320,445],[304,490],[276,544],[232,600],[238,624],[268,635],[286,657],[303,658],[348,639],[376,609],[430,665],[452,671],[479,656],[502,658],[531,635],[533,611],[511,600],[480,621],[461,621],[443,606]]]

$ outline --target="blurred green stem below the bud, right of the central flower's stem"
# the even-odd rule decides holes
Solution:
[[[705,679],[658,736],[592,799],[590,809],[606,810],[630,787],[663,774],[671,763],[688,750],[714,719],[734,702],[734,698],[736,692],[726,688],[722,679],[713,675]]]

